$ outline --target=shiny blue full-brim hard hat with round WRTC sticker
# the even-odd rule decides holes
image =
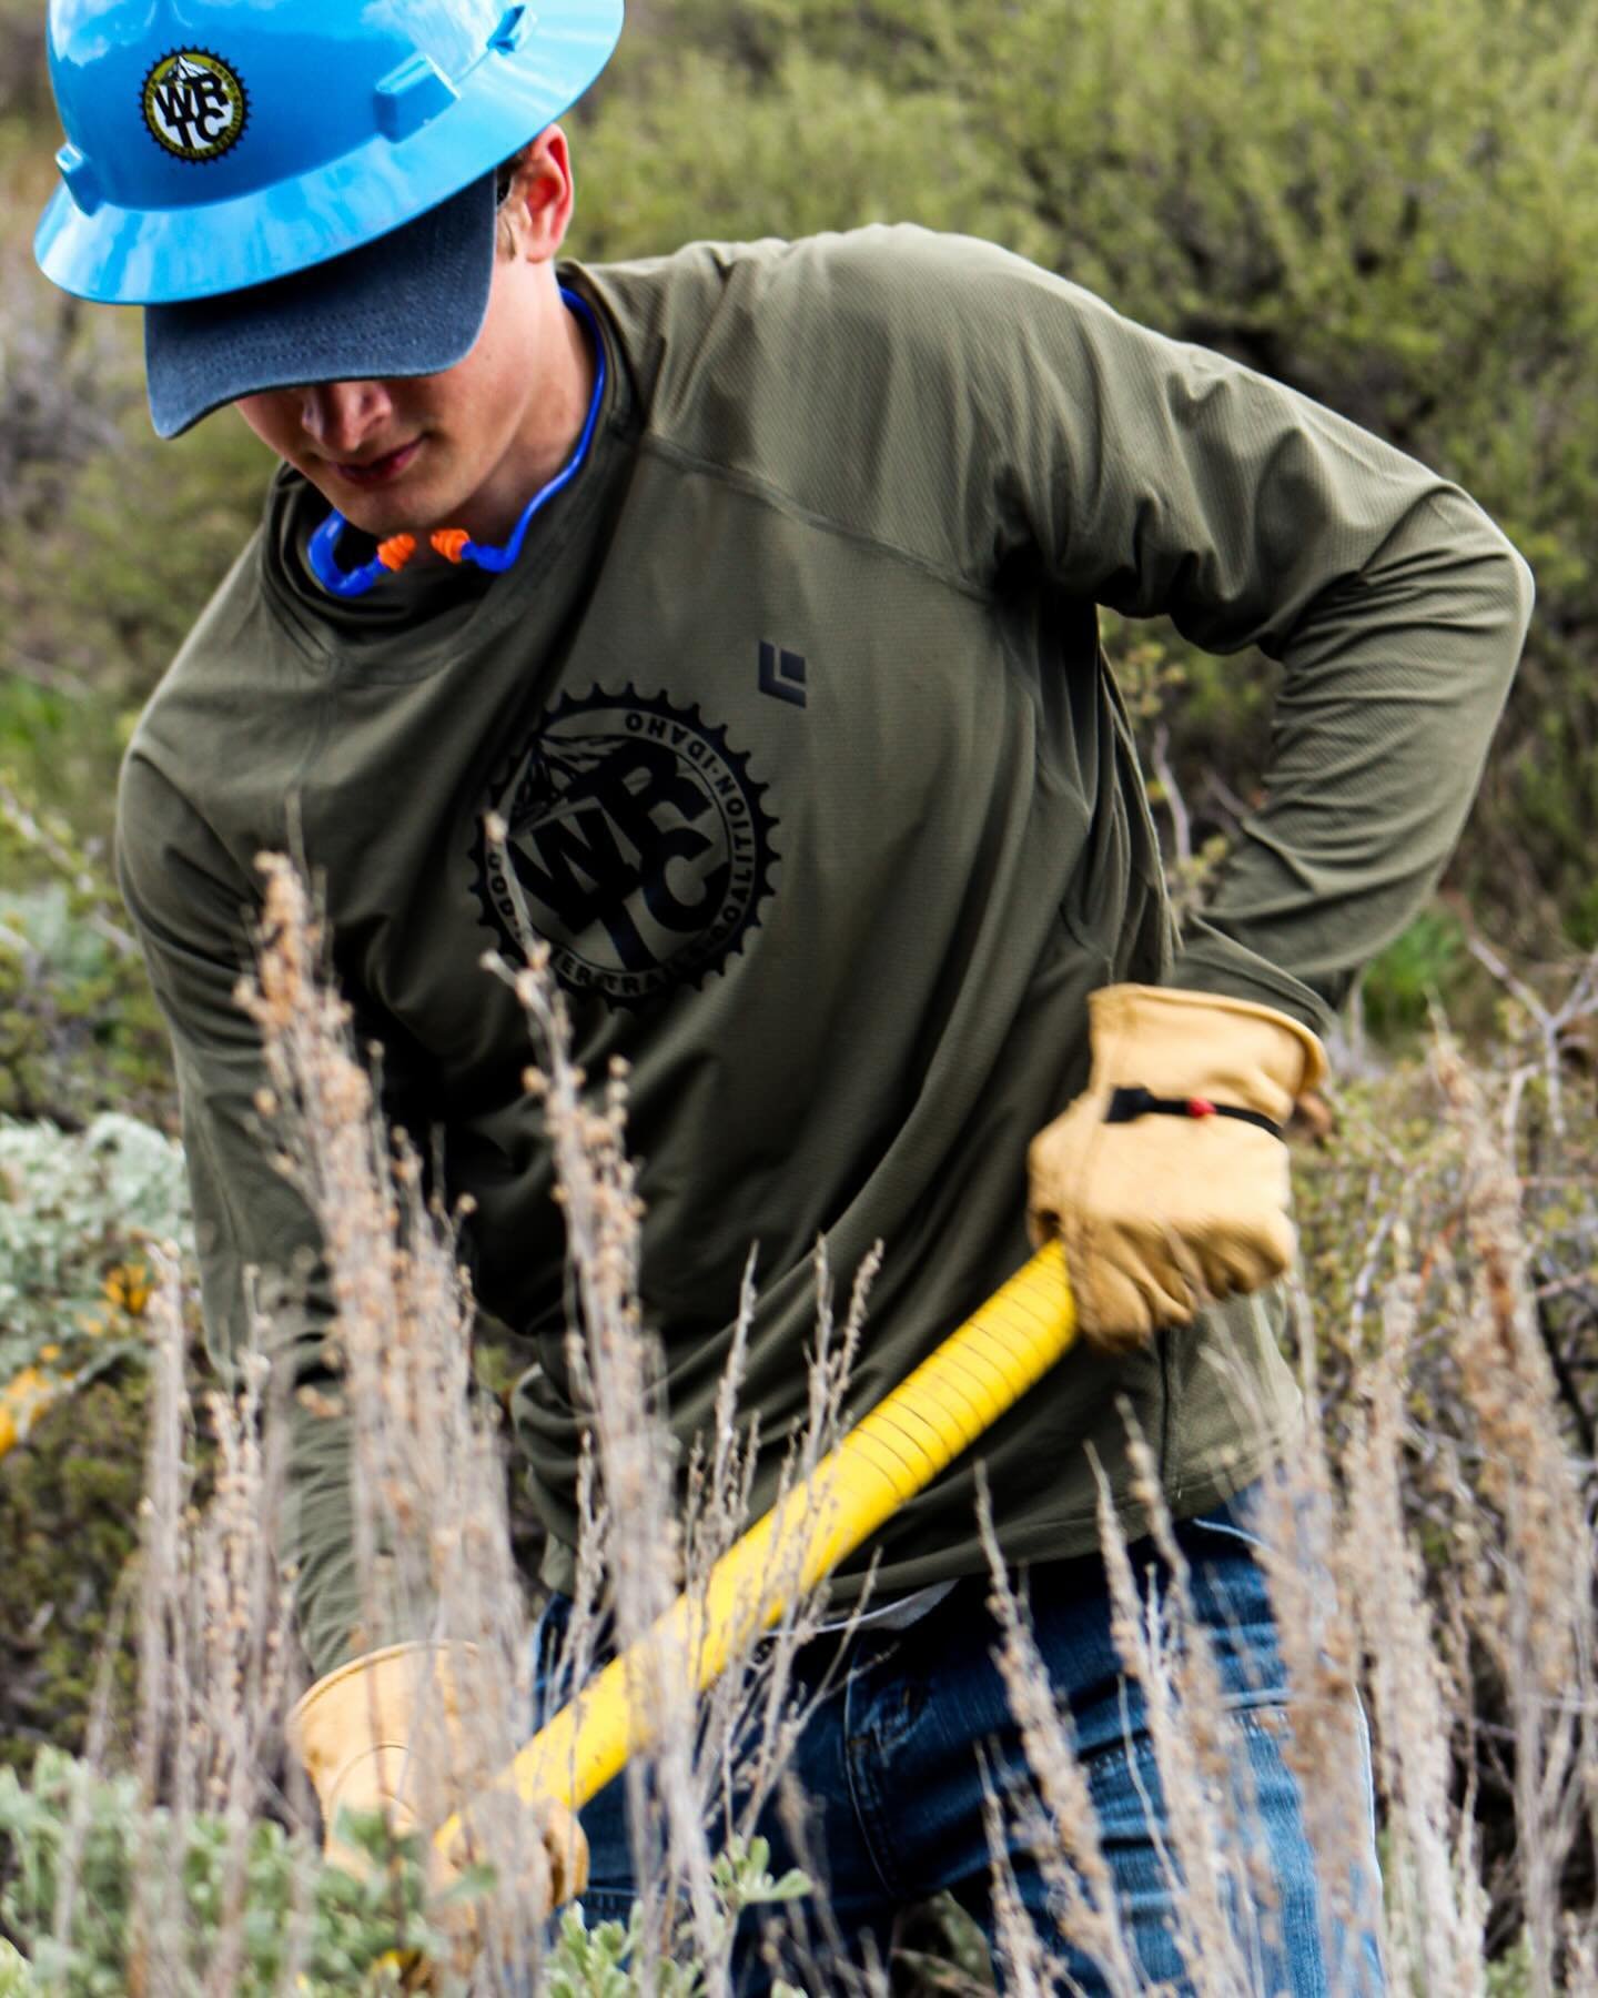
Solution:
[[[66,144],[34,238],[80,298],[168,306],[427,214],[593,82],[623,0],[52,0]]]

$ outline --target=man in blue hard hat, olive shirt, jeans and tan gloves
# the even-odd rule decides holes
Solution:
[[[631,1065],[643,1299],[685,1449],[751,1241],[745,1399],[775,1459],[805,1407],[819,1237],[845,1271],[885,1243],[863,1407],[1025,1259],[1029,1213],[1035,1239],[1061,1231],[1085,1349],[877,1536],[893,1628],[859,1638],[799,1772],[851,1940],[939,1888],[989,1918],[977,1754],[1019,1750],[981,1614],[981,1459],[1105,1780],[1143,1974],[1177,1978],[1093,1459],[1137,1536],[1131,1411],[1206,1614],[1246,1632],[1230,1690],[1278,1702],[1246,1491],[1298,1421],[1270,1289],[1292,1253],[1280,1131],[1458,835],[1528,573],[1374,438],[983,244],[871,230],[557,264],[553,120],[615,40],[611,0],[449,0],[415,42],[384,10],[338,40],[300,0],[210,12],[202,34],[198,6],[182,30],[132,0],[58,8],[66,186],[40,260],[146,306],[164,436],[236,404],[284,460],[120,803],[212,1343],[240,1335],[246,1265],[288,1273],[316,1241],[262,1155],[232,997],[254,855],[286,843],[290,801],[392,1109],[441,1129],[479,1295],[539,1363],[515,1423],[555,1622],[581,1443],[563,1243],[521,1019],[475,969],[519,951],[517,905],[581,1063]],[[306,76],[328,86],[314,118]],[[1181,939],[1099,603],[1282,665],[1266,801]],[[409,1698],[405,1656],[356,1632],[346,1463],[338,1423],[310,1425],[296,1554],[324,1678],[300,1734],[330,1816],[374,1688],[400,1736]],[[1268,1726],[1254,1746],[1272,1988],[1318,1990],[1296,1794]],[[621,1912],[619,1798],[585,1826],[589,1908]]]

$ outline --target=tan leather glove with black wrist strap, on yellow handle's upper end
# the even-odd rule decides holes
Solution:
[[[1248,999],[1107,985],[1089,999],[1093,1073],[1033,1139],[1033,1241],[1065,1245],[1077,1321],[1111,1353],[1258,1291],[1292,1261],[1294,1101],[1320,1041]]]

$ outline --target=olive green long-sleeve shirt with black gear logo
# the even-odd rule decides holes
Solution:
[[[282,476],[120,799],[216,1351],[242,1269],[316,1249],[232,999],[252,861],[292,801],[392,1107],[441,1131],[479,1295],[525,1339],[515,1433],[555,1584],[583,1423],[565,1245],[525,1023],[479,971],[515,949],[517,897],[587,1073],[631,1065],[643,1307],[683,1449],[759,1245],[763,1498],[805,1415],[817,1241],[839,1273],[885,1245],[865,1409],[1025,1259],[1025,1151],[1085,1081],[1089,991],[1177,983],[1324,1027],[1460,831],[1530,613],[1454,486],[985,244],[867,230],[565,280],[611,382],[519,563],[336,601],[304,563],[320,501]],[[1181,939],[1099,605],[1282,669],[1264,803]],[[316,1285],[286,1323],[284,1365],[316,1377]],[[983,1564],[977,1457],[1011,1558],[1091,1546],[1089,1451],[1125,1493],[1123,1401],[1179,1512],[1258,1475],[1296,1417],[1258,1303],[1125,1361],[1075,1353],[883,1528],[877,1586]],[[292,1552],[328,1668],[360,1616],[348,1437],[302,1429]]]

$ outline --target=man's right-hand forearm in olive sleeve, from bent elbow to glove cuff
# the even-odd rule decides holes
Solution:
[[[1175,983],[1324,1029],[1454,849],[1530,609],[1526,563],[1442,486],[1322,593],[1282,651],[1264,803]]]

